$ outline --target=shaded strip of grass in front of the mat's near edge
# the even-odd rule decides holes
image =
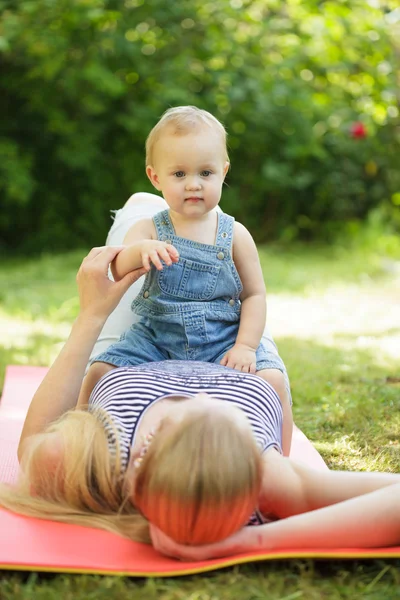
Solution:
[[[383,600],[398,598],[395,563],[290,561],[244,565],[179,579],[21,575],[0,583],[2,600]]]

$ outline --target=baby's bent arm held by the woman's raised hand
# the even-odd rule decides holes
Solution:
[[[126,248],[122,250],[111,264],[111,272],[115,281],[119,281],[130,271],[144,267],[150,271],[150,263],[162,270],[162,259],[171,265],[179,259],[178,251],[172,246],[157,239],[152,219],[143,219],[135,223],[125,236]]]

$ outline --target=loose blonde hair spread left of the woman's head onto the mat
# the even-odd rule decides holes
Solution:
[[[33,436],[17,484],[0,486],[0,505],[26,516],[98,527],[149,543],[148,523],[130,501],[132,481],[122,467],[118,445],[110,452],[105,419],[105,414],[99,418],[76,410]],[[40,458],[51,433],[60,436],[62,458],[43,468]]]

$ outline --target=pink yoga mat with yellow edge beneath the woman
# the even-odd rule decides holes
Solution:
[[[23,420],[47,369],[8,367],[0,403],[0,481],[12,483],[18,472],[16,450]],[[296,429],[292,455],[316,469],[326,469],[321,456]],[[102,573],[138,577],[177,576],[230,565],[283,558],[400,557],[400,547],[259,551],[234,557],[180,562],[161,556],[151,546],[117,535],[52,521],[33,519],[0,509],[0,569]]]

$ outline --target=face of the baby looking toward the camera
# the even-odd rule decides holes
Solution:
[[[156,142],[147,175],[172,212],[199,218],[219,203],[229,163],[221,137],[210,127],[177,135],[167,129]]]

